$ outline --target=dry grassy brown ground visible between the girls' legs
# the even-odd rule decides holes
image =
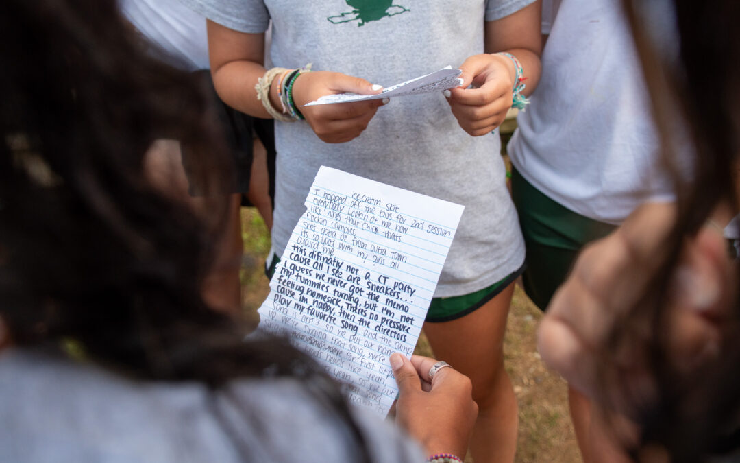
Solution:
[[[242,299],[245,314],[251,318],[256,317],[257,308],[269,292],[263,270],[269,252],[269,236],[253,208],[243,208],[242,230],[245,247]],[[516,461],[578,463],[582,460],[568,416],[565,382],[545,368],[536,352],[535,332],[541,316],[517,287],[505,337],[506,369],[519,399]],[[417,345],[417,353],[431,355],[423,338]]]

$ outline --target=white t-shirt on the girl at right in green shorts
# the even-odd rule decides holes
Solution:
[[[651,118],[620,2],[560,1],[542,78],[508,145],[514,167],[568,209],[619,224],[643,201],[673,199]]]

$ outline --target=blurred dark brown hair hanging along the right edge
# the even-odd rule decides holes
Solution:
[[[740,2],[625,0],[624,4],[645,70],[665,167],[676,181],[678,216],[664,249],[656,252],[665,256],[659,272],[650,279],[640,303],[616,323],[606,347],[613,351],[638,345],[642,362],[658,386],[656,401],[645,404],[637,415],[640,442],[629,449],[633,457],[639,459],[641,449],[658,444],[671,462],[702,462],[740,449],[736,432],[740,307],[735,301],[723,315],[719,359],[682,373],[668,342],[669,279],[685,240],[696,236],[718,205],[738,211]],[[675,27],[675,35],[665,30],[656,33],[656,4],[669,6],[662,11]],[[666,21],[665,16],[660,19]],[[676,153],[687,151],[679,146],[684,141],[693,151],[690,180],[676,161]],[[605,381],[609,378],[608,373],[602,376]]]

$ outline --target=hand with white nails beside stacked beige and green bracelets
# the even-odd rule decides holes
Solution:
[[[377,108],[387,100],[301,106],[331,93],[351,92],[359,95],[374,95],[380,93],[380,90],[382,90],[380,85],[373,85],[359,77],[318,71],[303,73],[295,79],[293,101],[322,141],[344,143],[360,136],[375,115]]]

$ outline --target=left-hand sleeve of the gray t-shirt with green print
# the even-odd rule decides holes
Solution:
[[[245,33],[267,30],[270,14],[263,0],[180,0],[213,22]]]

